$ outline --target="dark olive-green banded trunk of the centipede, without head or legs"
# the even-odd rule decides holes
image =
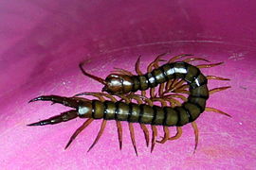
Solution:
[[[193,122],[205,110],[206,101],[209,98],[208,80],[197,67],[189,63],[167,63],[151,73],[133,76],[133,78],[134,92],[153,88],[173,78],[182,78],[190,85],[188,101],[182,106],[171,108],[92,100],[92,118],[180,127]],[[78,112],[82,112],[82,107]]]

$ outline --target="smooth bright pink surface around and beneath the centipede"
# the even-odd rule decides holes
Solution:
[[[0,4],[0,164],[3,169],[253,169],[256,165],[255,82],[256,3],[254,1],[5,1]],[[97,76],[113,67],[134,70],[155,56],[192,53],[224,61],[204,69],[210,88],[232,88],[210,96],[208,106],[232,118],[204,112],[196,121],[200,141],[193,151],[191,126],[174,142],[157,144],[151,154],[138,125],[135,155],[123,125],[123,150],[110,121],[89,153],[100,128],[95,121],[71,144],[84,120],[27,127],[28,123],[66,110],[48,102],[27,104],[41,94],[70,96],[101,91],[101,84],[82,76],[78,63]],[[171,56],[166,57],[166,59]],[[159,127],[160,129],[160,127]],[[173,128],[172,128],[173,129]],[[159,130],[160,131],[160,130]],[[174,129],[172,130],[174,134]],[[160,132],[159,135],[162,135]]]

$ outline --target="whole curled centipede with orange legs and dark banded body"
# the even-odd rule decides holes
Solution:
[[[139,69],[139,60],[136,62],[137,75],[124,69],[116,69],[114,74],[102,79],[85,72],[80,64],[82,74],[89,76],[104,85],[101,93],[83,92],[72,97],[59,95],[42,95],[29,101],[51,101],[53,104],[59,103],[74,110],[65,111],[59,115],[50,117],[27,126],[45,126],[66,122],[75,118],[86,118],[87,120],[79,127],[71,136],[65,149],[75,140],[75,138],[88,127],[94,120],[102,119],[100,131],[89,147],[90,151],[95,144],[98,143],[101,135],[106,127],[107,121],[115,120],[118,129],[119,149],[122,148],[122,126],[121,121],[127,122],[130,130],[131,141],[137,154],[137,146],[135,140],[134,123],[138,123],[144,133],[147,146],[150,143],[150,133],[146,125],[150,125],[152,129],[151,152],[155,148],[155,144],[165,144],[167,141],[177,140],[182,135],[182,127],[191,124],[194,136],[194,152],[196,150],[199,138],[199,130],[195,120],[204,111],[213,111],[230,117],[230,115],[222,110],[207,107],[207,100],[212,93],[217,93],[230,86],[208,89],[208,80],[229,80],[220,76],[204,76],[200,68],[210,68],[222,64],[222,62],[214,64],[201,64],[193,66],[190,61],[207,59],[194,58],[192,55],[179,55],[162,66],[158,62],[166,61],[160,59],[165,54],[161,54],[149,64],[147,73],[142,74]],[[182,61],[175,61],[184,57],[191,57]],[[155,87],[158,87],[158,93],[155,93]],[[146,96],[146,90],[150,90],[150,97]],[[141,94],[136,94],[141,91]],[[181,93],[185,93],[185,97]],[[92,95],[97,99],[89,100],[81,97],[81,95]],[[107,99],[106,99],[107,98]],[[117,99],[119,98],[119,100]],[[181,99],[181,103],[176,98]],[[136,101],[136,102],[134,102]],[[160,102],[161,106],[155,105]],[[164,136],[161,140],[156,140],[157,128],[163,127]],[[176,134],[170,137],[169,127],[176,127]]]

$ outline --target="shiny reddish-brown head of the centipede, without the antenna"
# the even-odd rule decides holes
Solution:
[[[106,77],[102,92],[111,94],[130,93],[132,88],[133,79],[131,76],[111,74]]]

